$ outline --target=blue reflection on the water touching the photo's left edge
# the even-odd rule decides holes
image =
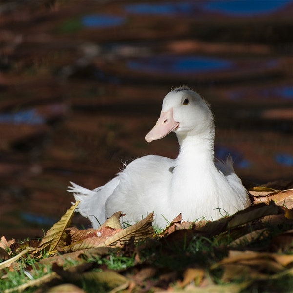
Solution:
[[[15,113],[1,113],[0,123],[12,123],[12,124],[44,124],[45,119],[34,110],[24,110]]]

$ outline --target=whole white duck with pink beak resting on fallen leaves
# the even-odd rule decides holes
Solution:
[[[125,214],[122,221],[130,223],[154,211],[155,224],[166,227],[179,213],[185,221],[216,220],[250,205],[231,159],[215,162],[212,112],[187,86],[167,94],[160,118],[145,139],[151,142],[171,131],[180,145],[175,160],[154,155],[138,158],[92,191],[71,183],[68,191],[80,201],[77,210],[94,228],[117,211]]]

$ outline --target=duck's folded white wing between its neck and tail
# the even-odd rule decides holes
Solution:
[[[132,161],[118,174],[119,185],[105,204],[106,217],[120,210],[123,221],[133,222],[166,206],[173,164],[174,160],[155,155]]]

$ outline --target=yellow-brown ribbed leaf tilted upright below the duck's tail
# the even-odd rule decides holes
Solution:
[[[77,201],[70,209],[68,209],[67,212],[61,217],[61,219],[48,230],[35,253],[41,250],[46,250],[49,252],[49,254],[56,253],[57,245],[62,239],[65,229],[69,226],[74,210],[78,204],[79,201]]]

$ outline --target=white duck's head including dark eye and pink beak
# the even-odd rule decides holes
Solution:
[[[209,105],[187,86],[175,88],[165,96],[161,115],[145,139],[150,143],[163,138],[171,131],[174,131],[178,138],[214,131]]]

